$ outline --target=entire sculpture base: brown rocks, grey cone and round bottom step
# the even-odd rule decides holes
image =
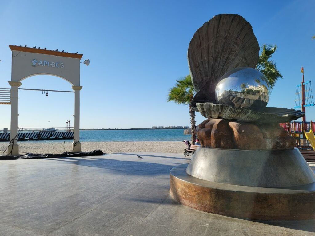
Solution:
[[[189,164],[170,172],[170,194],[200,211],[252,220],[315,218],[315,175],[279,124],[207,119]]]

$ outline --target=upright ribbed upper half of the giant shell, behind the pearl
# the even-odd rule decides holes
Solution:
[[[242,16],[221,14],[196,31],[187,57],[194,87],[208,102],[215,102],[215,86],[221,76],[236,67],[255,68],[259,44]]]

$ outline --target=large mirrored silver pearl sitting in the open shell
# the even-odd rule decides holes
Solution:
[[[215,87],[215,100],[218,104],[261,111],[268,103],[270,92],[269,83],[260,71],[238,67],[221,77]]]

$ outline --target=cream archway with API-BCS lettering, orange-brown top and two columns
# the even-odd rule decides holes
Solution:
[[[21,81],[35,75],[52,75],[65,79],[74,90],[74,128],[72,152],[81,152],[80,143],[80,59],[83,54],[9,45],[12,51],[11,132],[8,154],[19,155],[17,143],[18,88]]]

